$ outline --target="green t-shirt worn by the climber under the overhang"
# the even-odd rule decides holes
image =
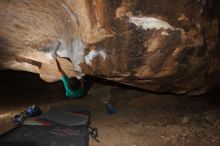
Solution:
[[[85,91],[82,90],[81,88],[76,89],[76,90],[70,89],[68,86],[68,82],[70,78],[68,78],[66,75],[62,76],[61,80],[63,81],[67,97],[79,98],[79,97],[83,97],[86,95]]]

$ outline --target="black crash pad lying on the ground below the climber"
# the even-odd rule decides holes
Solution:
[[[82,107],[54,106],[0,137],[0,146],[88,146],[90,113]]]

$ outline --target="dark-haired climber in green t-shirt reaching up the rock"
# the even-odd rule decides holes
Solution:
[[[66,96],[68,98],[81,98],[87,95],[89,88],[92,86],[92,80],[90,78],[84,80],[84,78],[81,77],[80,82],[76,77],[69,78],[62,70],[57,57],[55,55],[53,55],[53,57],[56,61],[61,80],[63,81],[64,88],[66,90]]]

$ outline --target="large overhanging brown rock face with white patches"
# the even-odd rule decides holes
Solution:
[[[0,68],[84,74],[156,92],[218,85],[218,0],[1,0]]]

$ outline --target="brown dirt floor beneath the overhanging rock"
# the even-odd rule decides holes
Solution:
[[[97,82],[89,95],[67,100],[61,82],[47,84],[38,75],[0,72],[0,133],[12,128],[10,118],[31,104],[85,105],[99,131],[90,146],[219,146],[220,92],[199,97],[153,94]],[[111,101],[117,113],[106,114]]]

